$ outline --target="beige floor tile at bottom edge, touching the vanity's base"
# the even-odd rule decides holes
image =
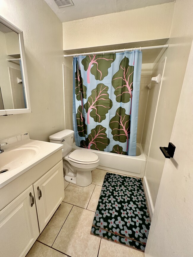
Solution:
[[[65,257],[67,255],[60,253],[47,245],[43,245],[42,243],[35,242],[32,248],[29,250],[26,257]]]

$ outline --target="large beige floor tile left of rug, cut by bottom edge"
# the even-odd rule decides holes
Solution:
[[[73,206],[53,248],[72,257],[97,257],[100,238],[90,234],[94,212]]]

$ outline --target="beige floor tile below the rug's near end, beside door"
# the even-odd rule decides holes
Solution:
[[[98,257],[144,257],[144,253],[138,250],[129,248],[124,245],[119,245],[105,239],[101,239],[100,250]]]

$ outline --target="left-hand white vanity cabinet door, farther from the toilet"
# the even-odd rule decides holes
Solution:
[[[31,197],[30,197],[31,193]],[[39,236],[36,206],[30,186],[0,211],[0,256],[26,256]]]

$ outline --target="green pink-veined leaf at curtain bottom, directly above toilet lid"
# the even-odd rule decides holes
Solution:
[[[106,128],[101,125],[97,125],[91,130],[91,133],[88,135],[86,140],[80,141],[80,147],[104,151],[109,143],[110,139],[107,138]]]

